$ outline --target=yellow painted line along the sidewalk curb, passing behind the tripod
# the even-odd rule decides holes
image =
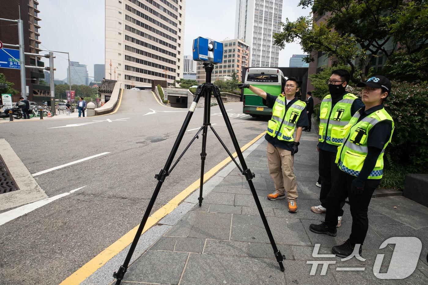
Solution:
[[[241,151],[246,150],[249,148],[253,143],[255,143],[257,140],[259,140],[266,132],[263,132],[262,134],[259,134],[256,138],[251,140],[249,143],[241,147]],[[232,154],[233,157],[237,157],[236,152]],[[223,166],[225,166],[227,163],[232,161],[230,157],[227,157],[222,162],[218,163],[216,166],[211,168],[207,173],[204,175],[204,182],[207,181],[209,178],[211,178],[217,171],[219,171]],[[160,219],[165,217],[167,214],[171,213],[172,210],[174,210],[187,196],[189,196],[190,193],[192,193],[194,190],[199,188],[200,184],[200,178],[190,184],[189,187],[184,189],[181,193],[179,193],[177,196],[172,198],[166,205],[164,205],[162,208],[160,208],[158,211],[152,214],[147,219],[146,226],[144,226],[143,232],[146,232],[148,229],[150,229],[152,226],[154,226]],[[115,255],[117,255],[119,252],[121,252],[123,249],[125,249],[128,245],[132,243],[134,240],[134,237],[137,233],[137,229],[140,225],[136,226],[134,229],[131,229],[131,231],[127,232],[125,235],[123,235],[119,240],[116,240],[112,245],[108,246],[106,249],[104,249],[101,253],[99,253],[97,256],[92,258],[90,261],[88,261],[85,265],[80,267],[76,272],[68,276],[64,281],[62,281],[59,285],[76,285],[83,282],[86,278],[91,276],[93,273],[95,273],[96,270],[98,270],[101,266],[107,263],[111,258],[113,258]]]

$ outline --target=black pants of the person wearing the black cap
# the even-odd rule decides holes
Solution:
[[[363,244],[366,239],[369,229],[369,210],[370,200],[372,199],[373,191],[380,184],[380,179],[367,179],[364,186],[364,191],[360,195],[351,193],[351,183],[355,176],[349,175],[343,171],[333,182],[330,193],[328,193],[327,213],[325,215],[325,223],[330,228],[337,226],[337,217],[342,210],[342,201],[348,196],[349,205],[351,206],[352,228],[349,239],[351,244]]]

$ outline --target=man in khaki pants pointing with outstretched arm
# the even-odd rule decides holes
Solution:
[[[284,199],[287,192],[288,211],[294,213],[297,211],[298,197],[293,171],[294,154],[298,151],[302,127],[308,125],[306,104],[295,98],[299,83],[296,78],[289,77],[278,96],[270,95],[250,84],[241,83],[238,87],[250,89],[263,98],[265,106],[272,108],[272,118],[268,122],[265,139],[268,141],[268,166],[275,191],[268,195],[268,199]]]

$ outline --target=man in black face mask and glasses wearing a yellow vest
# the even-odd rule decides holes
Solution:
[[[321,101],[319,134],[318,134],[318,173],[321,179],[320,202],[321,205],[312,206],[314,213],[325,213],[327,210],[327,195],[330,192],[333,180],[340,170],[335,163],[337,147],[345,136],[345,126],[352,116],[364,107],[363,102],[354,94],[345,91],[351,75],[345,69],[333,70],[327,80],[330,94]],[[346,198],[346,197],[345,197]],[[345,205],[345,198],[342,207]],[[338,227],[342,225],[343,210],[339,214]]]

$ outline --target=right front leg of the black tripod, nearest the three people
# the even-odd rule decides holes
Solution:
[[[229,131],[230,138],[232,139],[233,145],[235,146],[235,151],[238,154],[239,161],[241,162],[242,174],[245,175],[248,181],[248,185],[250,186],[251,193],[253,194],[254,202],[256,202],[257,209],[259,210],[260,217],[262,218],[263,225],[265,226],[266,233],[268,234],[270,244],[272,245],[273,253],[275,254],[276,261],[278,261],[279,268],[281,271],[284,271],[284,265],[282,264],[282,260],[285,259],[285,255],[282,255],[279,249],[276,247],[275,240],[273,240],[272,232],[270,232],[268,220],[266,219],[265,213],[263,212],[262,204],[260,204],[259,196],[257,196],[256,188],[254,187],[253,179],[255,177],[254,173],[251,173],[250,169],[247,167],[247,163],[245,163],[244,156],[242,155],[241,148],[239,147],[238,140],[236,139],[235,133],[232,128],[232,124],[230,123],[229,117],[226,113],[226,108],[224,107],[223,101],[221,100],[220,92],[218,89],[214,88],[213,90],[214,96],[217,98],[218,105],[220,107],[221,113],[223,115],[223,119],[226,123],[226,127]]]

